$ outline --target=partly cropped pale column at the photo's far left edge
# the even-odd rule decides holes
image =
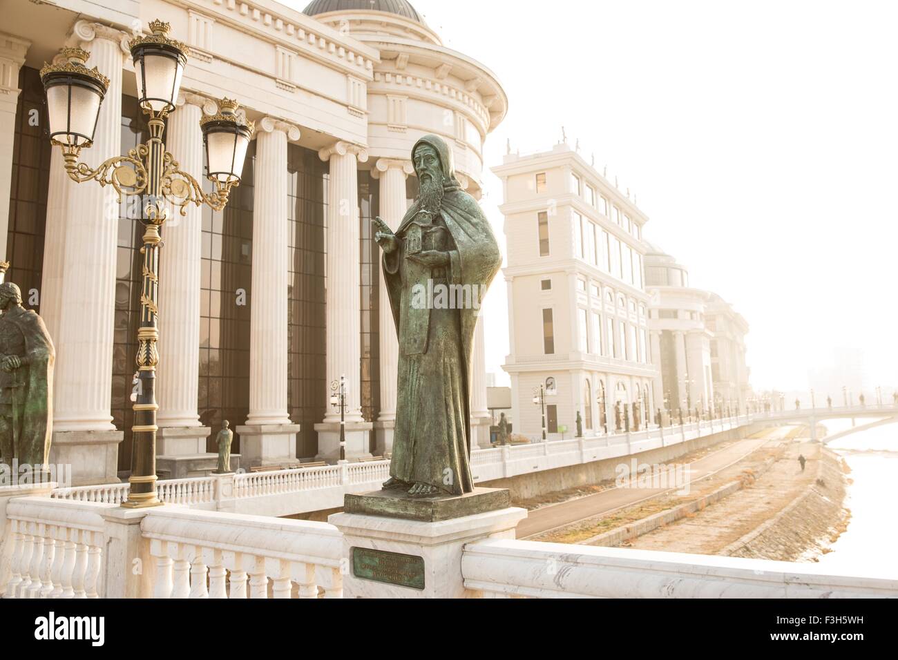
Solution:
[[[0,32],[0,261],[7,258],[9,195],[13,182],[15,110],[19,105],[19,69],[31,41]]]

